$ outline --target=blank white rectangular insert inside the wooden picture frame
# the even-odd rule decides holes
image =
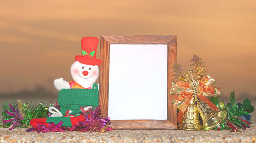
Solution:
[[[110,44],[111,120],[167,119],[165,44]]]

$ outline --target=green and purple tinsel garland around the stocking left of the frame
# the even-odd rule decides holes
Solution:
[[[47,118],[50,117],[50,114],[48,112],[48,106],[45,105],[45,103],[40,102],[38,105],[37,103],[30,104],[28,106],[28,103],[21,103],[21,101],[13,101],[12,104],[5,103],[4,104],[4,111],[2,113],[2,120],[1,122],[3,125],[0,127],[9,127],[9,130],[12,130],[16,127],[21,128],[29,128],[27,129],[27,132],[30,131],[37,131],[37,132],[65,132],[65,131],[83,131],[83,132],[106,132],[111,131],[112,128],[109,127],[110,125],[110,119],[100,117],[100,106],[98,106],[96,109],[90,109],[89,114],[84,111],[83,107],[81,107],[82,115],[85,119],[85,121],[80,121],[76,125],[72,127],[63,127],[61,126],[63,124],[62,121],[60,121],[57,125],[55,125],[53,122],[50,122],[48,127],[45,125],[37,124],[37,128],[31,128],[30,120],[33,118]],[[54,106],[59,109],[58,103],[56,102],[53,104],[50,103],[50,106]],[[1,123],[0,122],[0,123]]]

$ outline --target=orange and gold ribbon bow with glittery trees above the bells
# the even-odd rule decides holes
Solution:
[[[193,55],[191,62],[194,66],[193,70],[189,70],[188,73],[184,74],[181,65],[175,62],[173,68],[174,80],[172,83],[171,94],[177,94],[177,97],[172,102],[176,104],[179,109],[177,116],[178,123],[187,110],[189,104],[197,104],[197,101],[201,100],[205,102],[212,110],[218,110],[219,108],[212,103],[207,96],[220,96],[220,89],[214,87],[213,85],[217,82],[212,79],[209,75],[202,75],[207,73],[208,70],[203,66],[203,62],[200,61],[201,58]]]

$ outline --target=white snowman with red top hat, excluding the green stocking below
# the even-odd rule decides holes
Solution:
[[[82,55],[75,57],[75,62],[70,68],[74,81],[67,82],[63,78],[54,80],[57,90],[62,89],[91,89],[99,76],[101,60],[96,59],[96,49],[99,39],[96,37],[82,38]]]

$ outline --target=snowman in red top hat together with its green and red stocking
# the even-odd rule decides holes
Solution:
[[[60,121],[63,122],[61,126],[72,127],[80,121],[85,121],[84,116],[80,113],[81,106],[87,106],[84,107],[84,111],[88,111],[92,106],[98,106],[96,99],[98,92],[95,92],[95,90],[98,91],[98,86],[95,86],[94,82],[99,76],[98,66],[102,63],[101,60],[96,59],[99,39],[83,37],[81,41],[82,55],[75,56],[75,62],[70,69],[74,81],[67,82],[63,78],[54,80],[55,88],[60,90],[58,103],[61,112],[55,107],[50,107],[49,112],[52,113],[50,117],[30,120],[30,124],[34,128],[37,128],[38,123],[48,127],[50,122],[58,124]]]

